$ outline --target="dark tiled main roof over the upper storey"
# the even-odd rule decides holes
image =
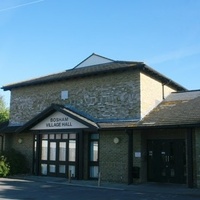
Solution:
[[[102,59],[106,60],[108,58],[102,57]],[[85,61],[81,63],[84,63],[84,62]],[[179,91],[186,90],[186,88],[184,88],[183,86],[165,77],[164,75],[158,73],[157,71],[153,70],[149,66],[145,65],[143,62],[113,61],[111,59],[109,59],[109,62],[106,62],[106,63],[100,62],[100,64],[77,67],[77,68],[66,70],[61,73],[51,74],[48,76],[43,76],[36,79],[28,80],[28,81],[6,85],[6,86],[3,86],[2,89],[6,91],[6,90],[11,90],[17,87],[45,84],[49,82],[69,80],[69,79],[79,78],[79,77],[94,76],[94,75],[103,74],[103,73],[113,73],[113,72],[120,72],[124,70],[136,70],[136,69],[160,80],[163,84],[168,84],[169,86]]]

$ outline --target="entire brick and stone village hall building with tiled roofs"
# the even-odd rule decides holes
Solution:
[[[200,90],[97,54],[2,89],[1,150],[24,154],[34,175],[200,187]]]

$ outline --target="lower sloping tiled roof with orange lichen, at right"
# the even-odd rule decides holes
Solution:
[[[200,125],[200,90],[171,93],[139,123],[140,127]]]

